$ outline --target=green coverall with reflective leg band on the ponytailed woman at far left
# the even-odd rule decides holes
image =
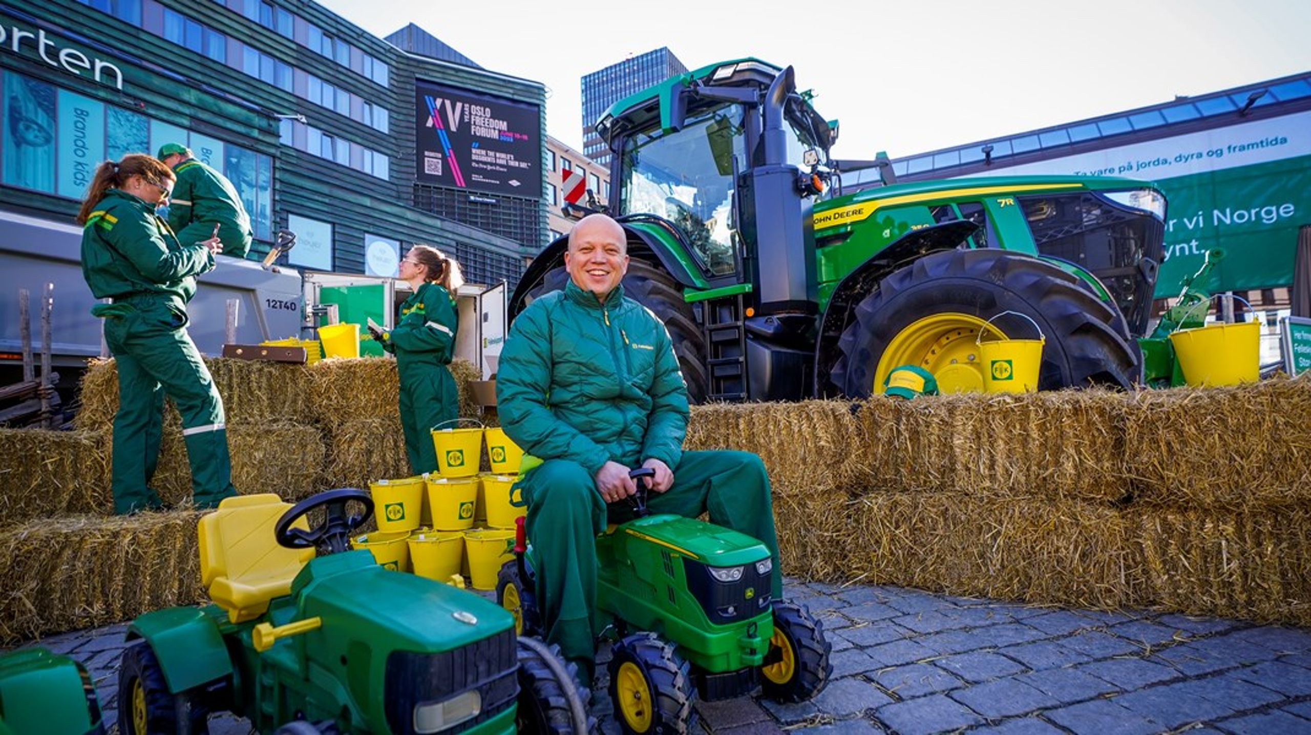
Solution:
[[[214,269],[201,245],[182,245],[155,206],[110,189],[83,229],[83,275],[105,317],[105,341],[118,366],[114,415],[114,512],[160,506],[149,489],[159,460],[164,394],[182,414],[195,504],[236,495],[228,459],[223,398],[186,333],[195,276]]]

